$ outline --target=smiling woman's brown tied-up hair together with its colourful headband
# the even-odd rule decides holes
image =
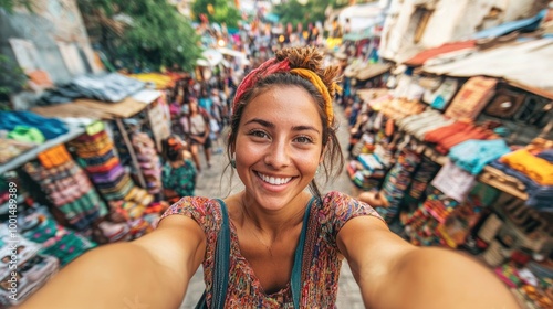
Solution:
[[[338,71],[337,66],[323,67],[323,55],[316,47],[307,46],[283,49],[276,52],[274,58],[250,72],[237,88],[234,97],[227,143],[229,159],[234,148],[242,113],[251,99],[271,87],[300,86],[315,100],[323,124],[325,180],[337,177],[344,166],[344,157],[336,136],[337,124],[332,111],[332,102],[337,90]],[[314,180],[311,181],[309,188],[315,196],[321,196]]]

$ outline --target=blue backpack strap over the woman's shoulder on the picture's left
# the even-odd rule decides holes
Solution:
[[[211,308],[223,309],[227,287],[229,285],[230,225],[227,205],[220,199],[217,199],[217,201],[221,206],[222,224],[219,235],[217,236]]]

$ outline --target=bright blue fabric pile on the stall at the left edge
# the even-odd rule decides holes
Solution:
[[[45,118],[31,111],[0,111],[0,130],[12,131],[17,126],[36,128],[46,140],[69,131],[67,125],[56,118]]]

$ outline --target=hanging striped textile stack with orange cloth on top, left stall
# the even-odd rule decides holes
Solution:
[[[40,184],[54,210],[77,231],[90,228],[96,219],[107,213],[104,202],[64,145],[40,153],[39,160],[25,163],[23,170]]]

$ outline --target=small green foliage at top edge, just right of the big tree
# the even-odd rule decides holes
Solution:
[[[196,0],[192,11],[197,21],[205,14],[209,22],[226,23],[230,28],[236,28],[241,19],[240,11],[230,0]]]

